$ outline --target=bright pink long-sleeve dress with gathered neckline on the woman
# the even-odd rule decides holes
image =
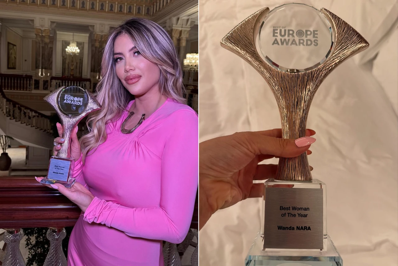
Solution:
[[[163,265],[162,240],[187,235],[198,185],[198,117],[168,98],[131,134],[107,124],[106,141],[75,163],[94,200],[68,244],[68,265]]]

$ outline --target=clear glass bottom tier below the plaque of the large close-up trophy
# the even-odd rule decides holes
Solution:
[[[258,233],[245,266],[342,266],[343,260],[328,236],[327,251],[320,250],[263,250],[263,238]]]

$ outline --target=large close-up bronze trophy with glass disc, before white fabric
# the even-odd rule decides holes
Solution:
[[[314,94],[341,62],[369,43],[332,12],[305,4],[263,8],[229,32],[221,46],[250,63],[271,88],[282,137],[305,136]],[[261,230],[246,266],[341,266],[326,231],[326,185],[312,179],[307,154],[280,158],[264,183]]]

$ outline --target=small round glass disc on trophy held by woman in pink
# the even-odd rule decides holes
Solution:
[[[59,92],[57,104],[62,113],[77,116],[86,110],[88,94],[77,86],[66,87]]]

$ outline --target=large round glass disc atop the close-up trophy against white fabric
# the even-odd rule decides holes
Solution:
[[[258,18],[254,42],[260,57],[286,72],[315,69],[332,53],[335,33],[322,12],[305,4],[285,4]]]

